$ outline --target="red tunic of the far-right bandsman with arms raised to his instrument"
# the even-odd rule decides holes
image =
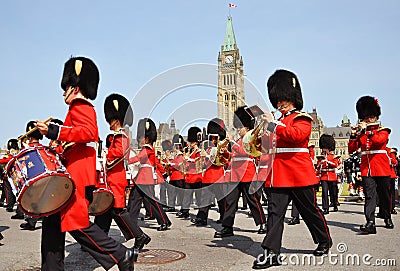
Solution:
[[[390,176],[390,160],[386,152],[390,129],[380,127],[350,138],[348,151],[361,148],[361,176]]]

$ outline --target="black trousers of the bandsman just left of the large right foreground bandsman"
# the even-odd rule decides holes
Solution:
[[[250,191],[251,182],[229,183],[233,188],[226,196],[226,210],[222,220],[222,226],[232,228],[235,221],[235,214],[238,210],[240,193],[247,199],[251,214],[256,225],[265,224],[265,214],[260,203],[261,195],[257,191]],[[252,192],[252,194],[251,194]]]

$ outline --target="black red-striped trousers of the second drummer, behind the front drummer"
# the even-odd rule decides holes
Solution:
[[[137,224],[138,220],[133,219],[123,208],[111,208],[104,214],[97,215],[94,218],[94,223],[108,234],[113,219],[127,241],[143,234],[143,231]]]

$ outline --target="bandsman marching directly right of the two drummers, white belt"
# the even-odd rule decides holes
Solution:
[[[166,178],[166,176],[153,147],[153,143],[157,140],[157,129],[151,119],[144,118],[139,120],[136,139],[141,150],[136,156],[129,157],[128,163],[134,164],[139,162],[140,166],[134,179],[135,185],[129,194],[128,211],[134,219],[137,219],[143,201],[147,200],[150,209],[153,211],[160,225],[157,230],[166,231],[172,223],[154,196],[155,185],[160,182],[159,179]]]

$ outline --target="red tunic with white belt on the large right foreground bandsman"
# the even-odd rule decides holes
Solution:
[[[307,149],[312,118],[296,111],[282,116],[279,121],[275,128],[278,151],[265,186],[302,187],[317,184],[314,165]],[[279,152],[279,148],[301,148],[307,151]]]

